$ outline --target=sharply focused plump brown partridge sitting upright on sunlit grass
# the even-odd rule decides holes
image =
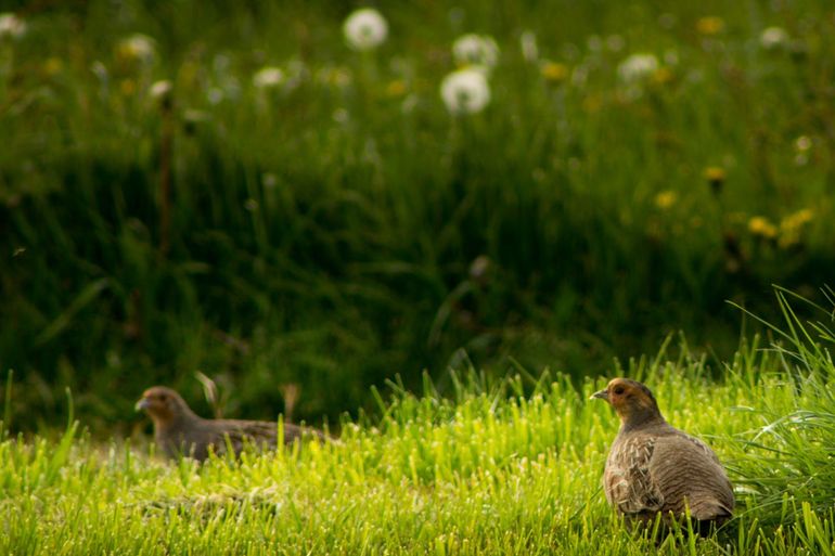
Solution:
[[[606,500],[628,521],[652,523],[660,512],[669,523],[685,515],[699,530],[727,521],[733,512],[731,482],[714,451],[670,426],[650,389],[628,378],[613,379],[592,398],[606,400],[620,430],[606,460]]]

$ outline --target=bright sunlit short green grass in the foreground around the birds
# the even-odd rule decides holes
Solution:
[[[574,384],[451,375],[376,395],[381,417],[342,423],[339,443],[165,464],[146,449],[55,439],[0,443],[0,551],[13,554],[830,554],[835,380],[825,323],[791,316],[780,345],[743,342],[723,378],[704,358],[613,370],[650,385],[675,426],[729,469],[736,518],[716,536],[630,534],[600,487],[617,430]],[[781,328],[774,328],[780,334]],[[810,334],[813,342],[805,335]],[[813,334],[813,336],[812,336]],[[72,415],[69,417],[73,419]]]

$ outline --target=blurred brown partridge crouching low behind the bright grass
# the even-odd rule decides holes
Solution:
[[[154,422],[154,438],[168,457],[184,455],[202,462],[208,457],[209,447],[218,455],[230,449],[237,455],[247,443],[258,448],[275,448],[278,443],[277,422],[204,419],[191,411],[179,393],[165,386],[145,390],[136,410],[144,410]],[[306,436],[326,438],[312,428],[284,425],[285,444]]]

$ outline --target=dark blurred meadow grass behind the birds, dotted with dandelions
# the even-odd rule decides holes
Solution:
[[[63,422],[66,386],[112,426],[151,384],[196,399],[195,371],[227,414],[292,384],[316,422],[396,374],[607,374],[678,329],[728,355],[725,300],[768,315],[772,283],[830,281],[830,3],[376,7],[388,40],[358,53],[342,2],[3,3],[14,426]],[[500,48],[492,100],[453,117],[471,31]],[[630,82],[635,53],[658,66]]]

